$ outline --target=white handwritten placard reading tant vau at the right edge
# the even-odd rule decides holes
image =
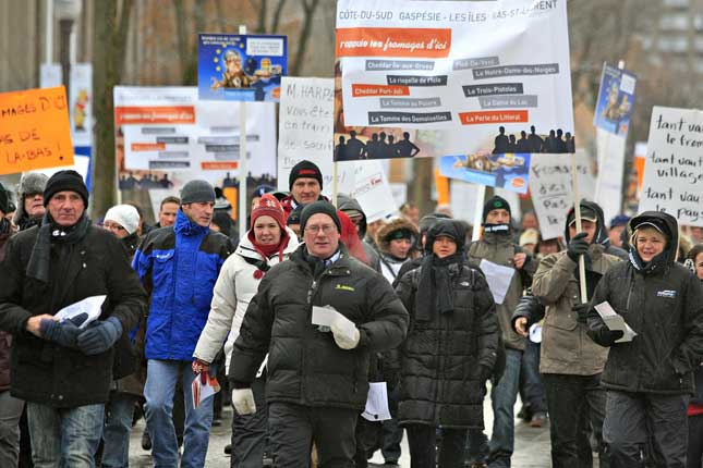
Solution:
[[[703,226],[703,112],[654,107],[640,211],[666,211]]]

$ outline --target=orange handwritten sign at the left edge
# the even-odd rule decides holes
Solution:
[[[0,174],[72,164],[63,86],[0,94]]]

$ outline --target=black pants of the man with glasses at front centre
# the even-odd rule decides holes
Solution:
[[[269,441],[276,468],[308,466],[312,443],[319,468],[354,468],[357,409],[268,405]]]

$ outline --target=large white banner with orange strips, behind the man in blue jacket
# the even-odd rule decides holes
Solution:
[[[239,106],[201,101],[195,87],[117,86],[120,189],[179,188],[193,178],[222,188],[235,186]],[[270,183],[276,171],[274,103],[246,104],[246,141],[249,173]]]

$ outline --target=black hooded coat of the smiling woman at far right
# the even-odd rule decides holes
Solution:
[[[660,217],[660,213],[653,214]],[[670,231],[678,245],[675,221]],[[674,261],[668,248],[662,269],[639,271],[631,261],[611,267],[591,299],[589,335],[610,346],[601,382],[606,389],[655,394],[694,393],[693,371],[703,356],[703,295],[699,280]],[[593,306],[607,300],[638,334],[629,343],[608,343],[606,325]]]

